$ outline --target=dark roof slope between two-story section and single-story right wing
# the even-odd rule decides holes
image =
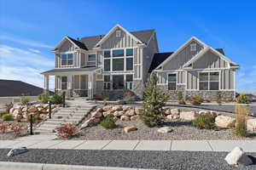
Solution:
[[[155,53],[149,67],[148,72],[154,71],[154,69],[160,65],[164,60],[166,60],[173,52],[166,52],[166,53]]]

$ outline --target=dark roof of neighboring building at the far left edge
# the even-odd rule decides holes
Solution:
[[[43,92],[43,88],[38,88],[26,82],[3,79],[0,80],[0,97],[21,96],[21,94],[37,96]]]

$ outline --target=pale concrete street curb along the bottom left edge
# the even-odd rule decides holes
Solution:
[[[0,170],[139,170],[141,168],[129,167],[94,167],[63,164],[45,164],[28,162],[0,161]]]

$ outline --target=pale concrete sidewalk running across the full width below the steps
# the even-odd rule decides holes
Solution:
[[[246,152],[256,152],[256,140],[0,140],[0,149],[22,146],[30,149],[183,151],[230,151],[240,146]]]

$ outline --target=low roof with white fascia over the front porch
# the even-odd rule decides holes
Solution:
[[[84,68],[56,68],[49,71],[41,72],[42,75],[58,75],[58,74],[77,74],[90,73],[100,69],[99,67],[84,67]]]

